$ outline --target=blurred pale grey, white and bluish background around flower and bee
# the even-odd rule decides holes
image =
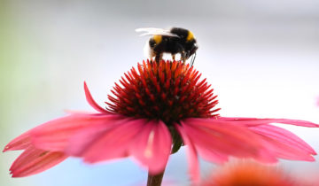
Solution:
[[[0,0],[0,147],[66,109],[93,111],[83,81],[103,105],[114,81],[145,59],[148,37],[138,37],[137,27],[194,33],[195,66],[219,95],[223,116],[319,123],[318,10],[315,0]],[[319,151],[318,129],[286,128]],[[131,159],[96,166],[67,159],[12,179],[8,169],[18,155],[1,154],[0,185],[141,185],[147,178]],[[202,174],[212,167],[202,161]],[[280,167],[298,176],[319,173],[317,162]],[[184,149],[169,160],[164,182],[190,183]]]

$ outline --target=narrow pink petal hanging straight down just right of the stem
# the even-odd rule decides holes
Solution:
[[[181,121],[181,123],[183,124],[183,121]],[[191,142],[190,137],[187,135],[187,133],[185,132],[184,128],[182,126],[180,126],[179,124],[175,123],[175,128],[177,129],[177,131],[179,132],[179,134],[182,136],[183,138],[183,143],[185,145],[188,145],[188,162],[190,165],[189,171],[191,174],[191,180],[195,183],[198,183],[200,181],[200,175],[199,175],[199,165],[198,165],[198,153],[195,149],[194,143]]]

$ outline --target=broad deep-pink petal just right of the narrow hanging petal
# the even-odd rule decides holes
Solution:
[[[258,157],[262,145],[259,136],[247,128],[232,124],[216,125],[210,120],[184,120],[183,128],[197,148],[210,149],[237,157]],[[231,128],[231,129],[230,129]]]

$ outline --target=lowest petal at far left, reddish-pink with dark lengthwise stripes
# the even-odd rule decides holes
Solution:
[[[38,150],[33,147],[27,148],[10,168],[12,177],[23,177],[41,173],[66,159],[62,152]]]

